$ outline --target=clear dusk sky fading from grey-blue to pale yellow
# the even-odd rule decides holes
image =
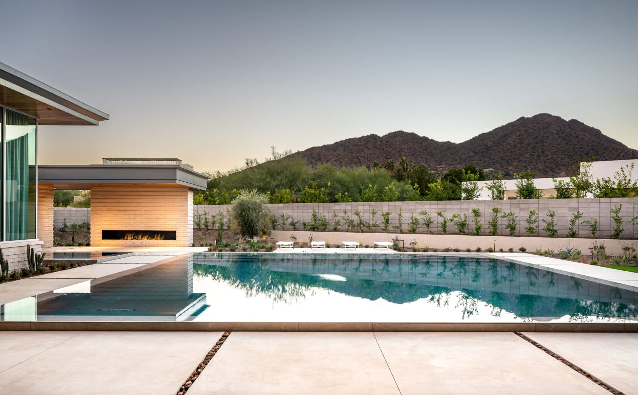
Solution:
[[[0,0],[0,15],[0,61],[110,114],[40,126],[41,164],[225,171],[271,145],[462,142],[540,112],[638,149],[635,0]]]

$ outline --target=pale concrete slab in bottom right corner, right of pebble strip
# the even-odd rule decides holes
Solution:
[[[635,333],[525,332],[525,336],[625,394],[638,394]]]

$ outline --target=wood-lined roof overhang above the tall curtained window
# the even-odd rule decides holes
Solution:
[[[0,105],[38,118],[41,125],[97,125],[108,114],[0,63]]]

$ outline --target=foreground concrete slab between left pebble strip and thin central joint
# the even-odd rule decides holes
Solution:
[[[188,391],[202,394],[399,391],[371,332],[232,332]]]

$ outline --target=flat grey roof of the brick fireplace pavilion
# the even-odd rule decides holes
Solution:
[[[90,190],[91,184],[173,184],[206,190],[208,177],[186,165],[38,165],[38,183],[57,190]]]

